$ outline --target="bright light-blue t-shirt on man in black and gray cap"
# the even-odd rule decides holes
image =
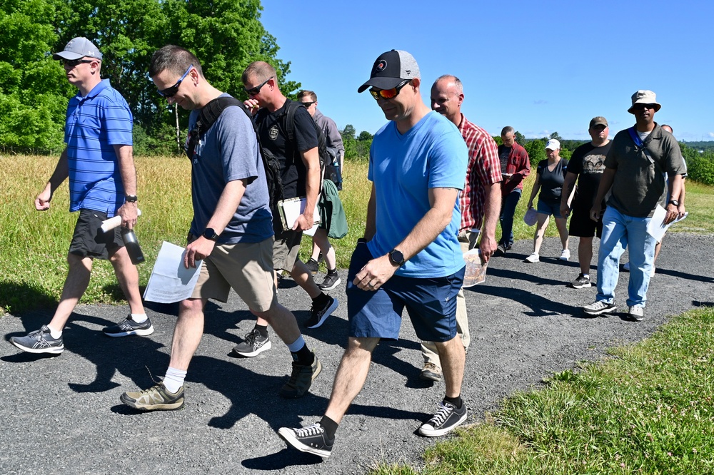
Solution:
[[[373,256],[401,242],[431,208],[429,188],[463,189],[468,150],[458,128],[430,112],[405,134],[395,122],[376,133],[367,178],[376,191],[376,234],[368,242]],[[444,277],[465,265],[458,244],[461,211],[454,200],[451,223],[426,248],[396,271],[403,277]]]

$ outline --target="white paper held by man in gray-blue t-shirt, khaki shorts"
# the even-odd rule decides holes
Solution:
[[[154,270],[151,271],[149,284],[144,290],[144,300],[147,302],[174,303],[191,297],[193,287],[196,287],[198,275],[201,274],[203,260],[196,261],[196,267],[183,267],[183,255],[186,252],[181,246],[164,241],[156,257]]]

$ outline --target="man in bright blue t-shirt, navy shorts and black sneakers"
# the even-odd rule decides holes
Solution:
[[[456,334],[456,295],[464,262],[457,235],[458,193],[468,150],[458,128],[421,98],[419,67],[406,51],[375,61],[370,88],[390,121],[374,136],[365,236],[347,279],[350,337],[320,422],[278,430],[298,450],[327,458],[343,415],[361,391],[379,339],[397,339],[404,307],[417,337],[436,342],[446,397],[419,434],[440,436],[466,420],[461,400],[464,351]]]

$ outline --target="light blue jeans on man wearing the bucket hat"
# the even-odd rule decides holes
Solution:
[[[603,215],[603,237],[598,255],[598,296],[596,300],[613,303],[620,276],[620,256],[630,246],[630,283],[628,307],[645,306],[650,272],[657,241],[647,233],[651,218],[633,218],[608,206]]]

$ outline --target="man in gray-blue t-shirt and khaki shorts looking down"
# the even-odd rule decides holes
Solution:
[[[164,381],[145,391],[125,392],[121,402],[144,411],[183,407],[183,379],[201,342],[203,307],[209,298],[226,302],[231,287],[288,345],[293,372],[280,394],[301,397],[322,366],[306,346],[295,316],[276,297],[273,219],[253,124],[240,106],[228,106],[199,135],[200,109],[228,95],[206,81],[198,58],[184,48],[169,45],[156,51],[149,76],[169,104],[192,111],[187,151],[192,163],[193,221],[183,265],[196,267],[196,261],[203,260],[203,267],[193,295],[179,305]]]

